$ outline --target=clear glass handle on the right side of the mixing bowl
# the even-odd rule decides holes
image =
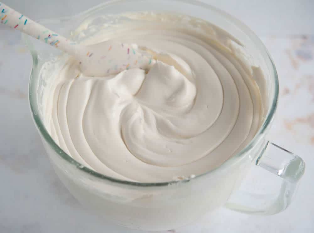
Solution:
[[[251,215],[273,215],[285,210],[304,174],[303,159],[268,141],[255,165],[255,168],[264,168],[282,178],[278,194],[250,193],[240,189],[230,196],[225,207]],[[257,184],[258,181],[254,182]]]

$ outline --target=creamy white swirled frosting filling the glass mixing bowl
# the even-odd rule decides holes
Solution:
[[[43,112],[57,144],[90,169],[138,182],[193,178],[243,149],[262,122],[254,79],[263,73],[253,77],[235,49],[240,42],[186,16],[123,17],[114,33],[100,31],[88,43],[137,44],[157,62],[147,74],[90,77],[72,58],[59,59]]]

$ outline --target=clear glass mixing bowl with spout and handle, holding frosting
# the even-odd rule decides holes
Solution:
[[[262,90],[264,121],[253,140],[225,163],[190,180],[164,183],[137,183],[97,173],[66,154],[53,141],[42,119],[42,95],[49,81],[41,75],[43,64],[60,55],[56,49],[24,36],[31,50],[30,109],[51,163],[65,186],[83,205],[115,224],[141,230],[169,230],[197,220],[222,205],[249,214],[270,215],[287,208],[304,173],[303,160],[266,139],[278,101],[275,65],[260,39],[236,18],[193,0],[117,0],[103,3],[75,16],[41,20],[40,23],[75,41],[89,27],[110,23],[111,14],[132,11],[172,11],[206,20],[228,31],[245,45],[264,72]],[[265,156],[267,154],[267,156]],[[117,155],[118,156],[118,155]],[[281,177],[276,195],[237,191],[252,166],[260,166]],[[256,167],[256,166],[255,166]],[[262,178],[257,178],[262,179]]]

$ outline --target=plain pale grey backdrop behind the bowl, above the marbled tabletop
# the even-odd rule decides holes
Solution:
[[[201,0],[240,19],[261,36],[314,32],[313,0]],[[73,15],[106,0],[2,0],[30,18]],[[34,17],[31,17],[33,16]]]

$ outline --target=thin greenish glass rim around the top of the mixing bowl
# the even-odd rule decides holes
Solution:
[[[80,17],[83,15],[88,15],[92,12],[98,11],[101,8],[107,7],[108,5],[111,4],[115,4],[115,3],[123,3],[123,2],[128,2],[129,0],[111,0],[105,3],[101,3],[93,8],[90,8],[82,13],[76,14],[75,17]],[[134,2],[141,2],[143,0],[133,0]],[[179,3],[188,3],[188,4],[192,4],[192,5],[196,5],[199,7],[203,7],[206,9],[209,9],[211,11],[216,11],[217,13],[221,14],[223,17],[227,18],[228,20],[232,20],[233,22],[236,22],[237,26],[247,32],[250,33],[250,36],[253,37],[254,42],[259,43],[259,45],[261,46],[262,49],[265,50],[266,54],[267,54],[267,58],[269,59],[271,65],[272,65],[272,71],[273,71],[273,79],[272,82],[274,84],[274,93],[273,96],[270,96],[271,98],[271,105],[268,109],[267,115],[265,116],[264,122],[261,125],[261,127],[259,128],[258,132],[256,133],[256,135],[253,137],[253,139],[251,140],[250,143],[248,143],[246,145],[245,148],[243,148],[239,153],[230,156],[230,158],[228,158],[224,163],[222,163],[219,167],[210,170],[206,173],[202,173],[200,175],[197,175],[196,177],[194,177],[193,179],[184,179],[184,180],[180,180],[180,181],[169,181],[169,182],[153,182],[153,183],[143,183],[143,182],[134,182],[134,181],[126,181],[126,180],[121,180],[121,179],[116,179],[101,173],[98,173],[94,170],[91,170],[87,167],[84,167],[84,165],[82,165],[81,163],[78,163],[75,159],[73,159],[71,156],[69,156],[67,153],[65,153],[62,148],[60,148],[57,143],[52,139],[52,137],[50,136],[50,134],[48,133],[48,131],[46,130],[46,127],[44,125],[44,123],[42,122],[41,118],[39,117],[39,114],[37,114],[38,109],[37,109],[37,101],[36,101],[36,97],[34,97],[33,92],[32,92],[32,80],[35,79],[34,75],[36,75],[34,73],[34,71],[36,70],[36,65],[38,63],[38,58],[37,58],[37,52],[35,51],[35,49],[30,49],[30,52],[32,54],[32,58],[33,58],[33,63],[32,63],[32,70],[30,72],[30,81],[29,81],[29,104],[30,104],[30,111],[32,113],[32,117],[33,120],[35,122],[35,125],[37,127],[37,130],[39,131],[39,133],[41,134],[41,136],[45,139],[45,141],[49,144],[49,146],[64,160],[66,160],[67,162],[71,163],[73,166],[75,166],[77,169],[83,171],[84,173],[87,173],[89,175],[92,175],[96,178],[102,179],[104,181],[110,181],[113,183],[117,183],[117,184],[125,184],[125,185],[130,185],[130,186],[141,186],[141,187],[156,187],[156,186],[168,186],[171,184],[176,184],[176,183],[187,183],[193,180],[197,180],[200,177],[206,176],[208,174],[211,173],[215,173],[217,171],[221,171],[223,169],[226,168],[230,168],[232,165],[236,164],[237,162],[239,162],[245,155],[246,152],[248,152],[250,149],[252,149],[257,142],[259,142],[259,139],[261,138],[261,136],[263,136],[263,133],[267,130],[267,128],[270,126],[271,122],[273,121],[273,117],[274,117],[274,113],[276,111],[277,108],[277,103],[278,103],[278,97],[279,97],[279,81],[278,81],[278,74],[277,74],[277,70],[276,67],[274,65],[274,62],[267,50],[267,48],[265,47],[265,45],[263,44],[263,42],[257,37],[257,35],[249,28],[247,27],[244,23],[242,23],[240,20],[236,19],[235,17],[231,16],[228,13],[225,13],[224,11],[215,8],[211,5],[208,5],[206,3],[200,2],[198,0],[163,0],[163,1],[167,1],[167,2],[179,2]],[[73,17],[73,16],[72,16]],[[71,16],[69,17],[63,17],[63,18],[54,18],[51,20],[67,20],[71,18]],[[49,20],[49,19],[46,19]],[[40,20],[45,21],[45,20]],[[26,38],[26,36],[23,35],[23,39],[26,41],[26,43],[29,45],[29,47],[32,47],[30,41],[28,38]],[[35,102],[34,102],[35,101]]]

